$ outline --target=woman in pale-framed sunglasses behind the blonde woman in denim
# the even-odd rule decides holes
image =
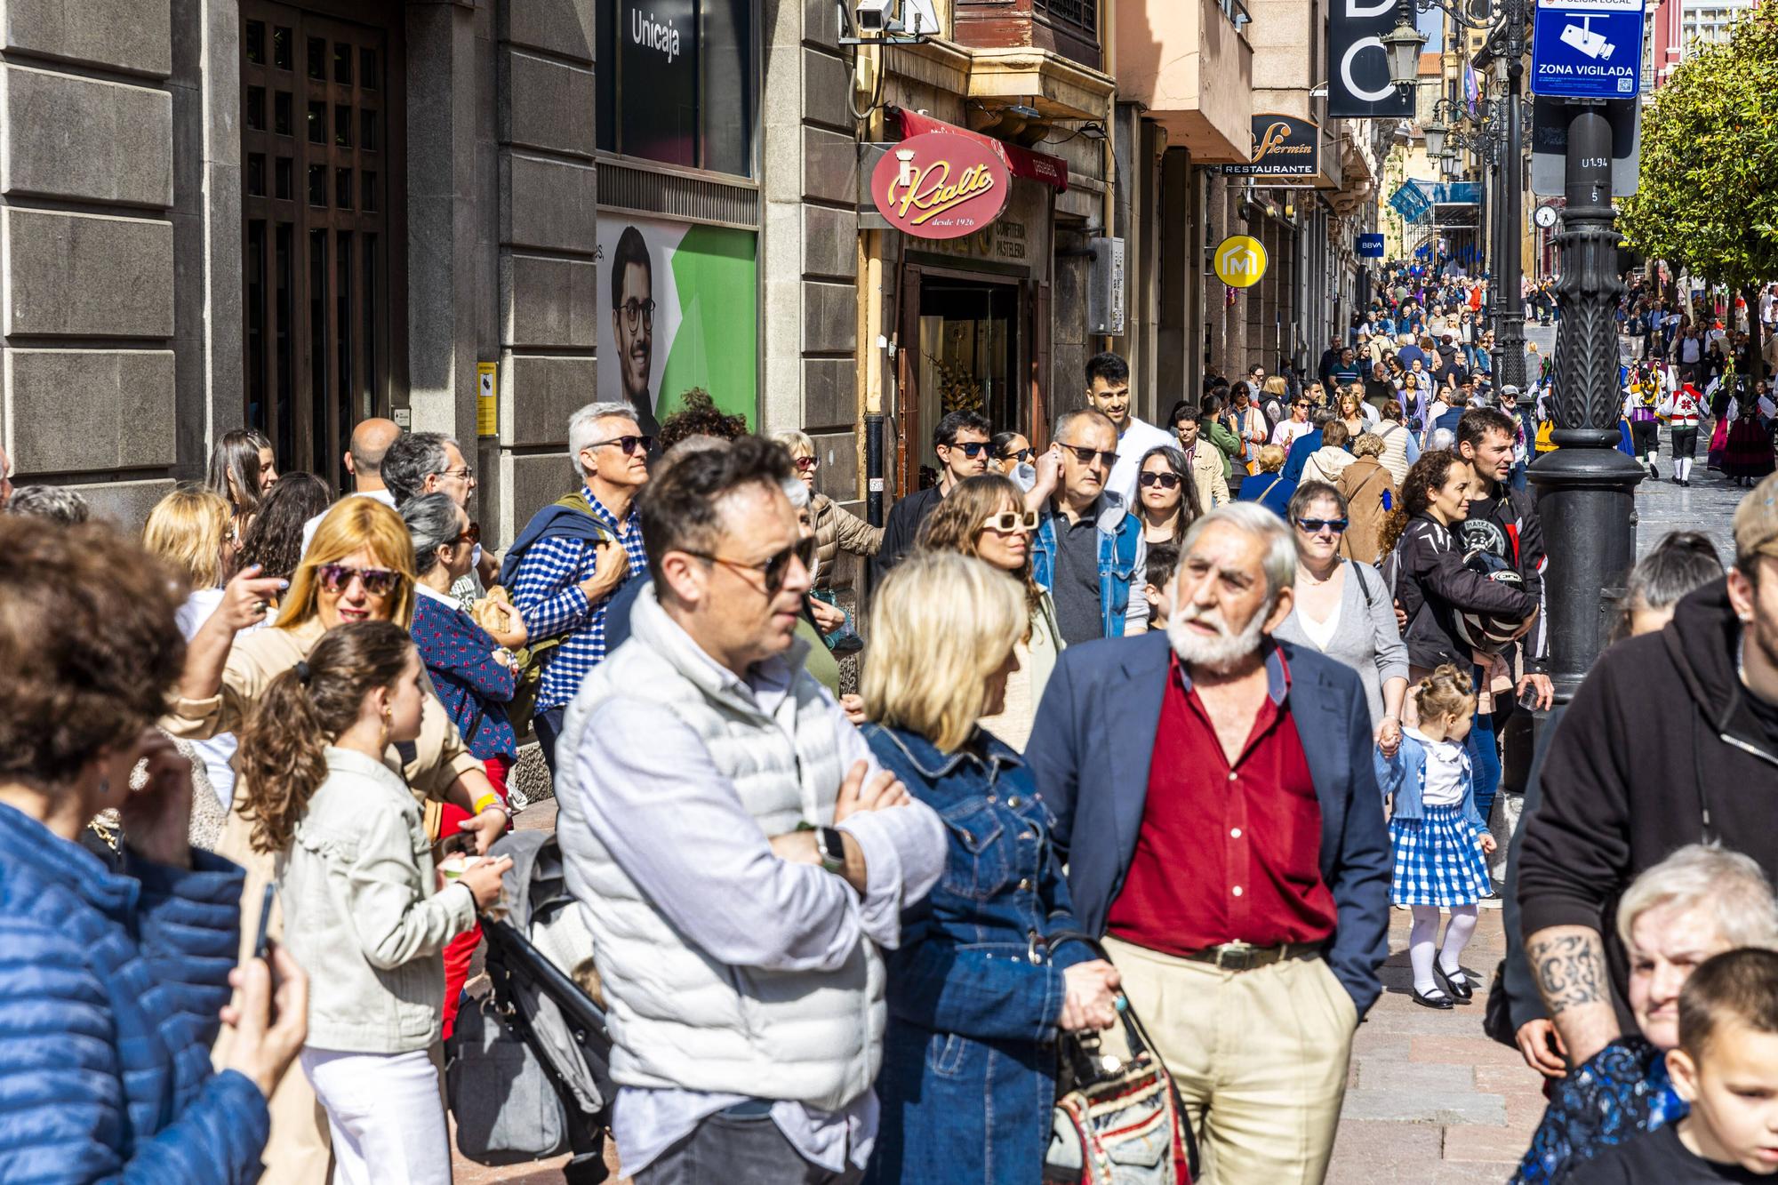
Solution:
[[[1024,509],[1024,493],[999,473],[971,477],[939,504],[939,509],[921,523],[919,548],[926,552],[960,552],[997,568],[1024,587],[1024,637],[1013,641],[1019,669],[1006,678],[1006,703],[981,726],[1024,753],[1031,738],[1031,721],[1044,685],[1056,667],[1056,655],[1065,642],[1056,628],[1056,607],[1049,592],[1037,587],[1031,576],[1031,532],[1037,530],[1037,511]]]

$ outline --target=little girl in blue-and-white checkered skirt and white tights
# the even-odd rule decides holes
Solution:
[[[1376,781],[1394,797],[1389,838],[1396,875],[1389,897],[1414,911],[1408,961],[1414,1002],[1430,1009],[1469,1004],[1476,982],[1463,971],[1463,947],[1476,932],[1476,902],[1486,897],[1494,836],[1476,813],[1476,785],[1463,751],[1476,692],[1465,671],[1446,664],[1419,681],[1421,722],[1401,733],[1392,758],[1376,754]],[[1444,943],[1438,913],[1451,911]]]

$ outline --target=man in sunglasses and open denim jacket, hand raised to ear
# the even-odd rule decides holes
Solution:
[[[1141,523],[1106,489],[1117,443],[1117,425],[1104,413],[1061,415],[1026,498],[1042,514],[1031,576],[1054,601],[1056,628],[1069,644],[1149,628],[1149,603],[1131,596],[1147,559]]]

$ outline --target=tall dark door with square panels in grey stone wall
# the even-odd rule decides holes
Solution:
[[[336,488],[352,427],[388,415],[391,292],[402,295],[391,285],[405,283],[379,181],[402,173],[404,116],[386,89],[400,77],[400,25],[388,5],[363,7],[384,20],[242,0],[242,411],[281,470]]]

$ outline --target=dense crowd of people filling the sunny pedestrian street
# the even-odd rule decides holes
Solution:
[[[526,735],[638,1185],[1026,1185],[1058,1050],[1136,1032],[1181,1169],[1317,1181],[1390,907],[1449,1012],[1502,897],[1556,1084],[1520,1180],[1771,1173],[1778,477],[1726,573],[1682,536],[1630,575],[1502,891],[1536,431],[1485,281],[1390,279],[1317,383],[1152,425],[1099,354],[1044,448],[955,411],[882,528],[697,399],[576,411],[505,548],[459,443],[386,420],[338,500],[228,432],[139,537],[0,454],[0,1180],[448,1181]]]

